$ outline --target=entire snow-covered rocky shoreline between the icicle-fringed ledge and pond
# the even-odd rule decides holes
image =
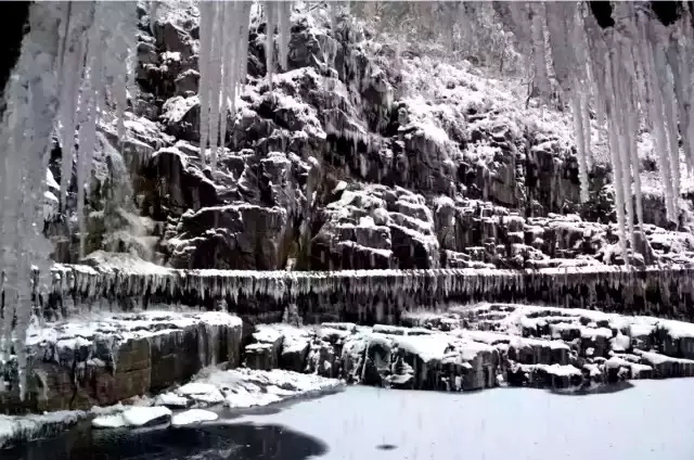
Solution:
[[[145,395],[144,406],[168,408],[160,410],[170,421],[176,414],[171,408],[178,413],[239,409],[343,383],[591,393],[629,380],[694,375],[694,324],[652,317],[479,304],[442,312],[410,311],[401,325],[301,325],[296,311],[287,311],[285,321],[253,327],[226,312],[147,311],[47,324],[28,340],[34,385],[28,399],[20,401],[10,385],[0,394],[0,409],[68,412],[4,416],[5,424],[14,420],[28,426],[30,420],[36,430],[5,427],[2,433],[7,439],[29,439],[48,433],[35,419],[48,420],[51,413],[83,418],[79,410],[119,401],[142,406],[137,401]],[[187,360],[188,368],[182,366]],[[183,368],[185,375],[171,374]],[[128,406],[119,407],[106,416],[118,418]],[[177,423],[193,416],[211,417],[191,412]]]

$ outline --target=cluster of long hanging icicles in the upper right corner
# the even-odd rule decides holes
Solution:
[[[678,23],[666,27],[652,18],[646,4],[616,2],[613,15],[618,23],[603,30],[583,7],[582,2],[509,3],[514,33],[532,43],[538,84],[547,87],[547,64],[551,62],[556,82],[573,95],[582,200],[588,197],[589,94],[593,94],[592,106],[600,119],[606,120],[601,128],[608,132],[620,244],[626,253],[627,235],[633,235],[634,221],[643,223],[635,149],[641,129],[639,114],[655,135],[671,220],[677,219],[676,200],[680,193],[680,137],[684,162],[690,169],[694,167],[694,113],[691,85],[686,84],[694,75],[694,64],[687,59],[693,48],[692,24],[689,11]]]

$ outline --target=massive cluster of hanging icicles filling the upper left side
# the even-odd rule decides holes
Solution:
[[[137,15],[132,3],[37,2],[29,8],[28,21],[30,31],[4,91],[8,110],[0,127],[0,150],[4,152],[0,163],[4,243],[0,266],[5,293],[0,362],[11,353],[15,317],[16,341],[25,340],[31,315],[28,294],[37,281],[27,274],[31,264],[46,260],[49,253],[37,216],[42,214],[51,137],[57,131],[66,146],[59,197],[64,206],[75,152],[78,181],[86,186],[98,119],[110,106],[116,113],[126,108],[124,76],[128,75],[125,67],[129,43],[136,37]],[[106,55],[117,59],[104,60]],[[77,125],[79,149],[75,149]],[[83,187],[78,190],[81,210]],[[83,218],[79,233],[83,241]],[[18,355],[24,382],[26,362],[24,354]]]

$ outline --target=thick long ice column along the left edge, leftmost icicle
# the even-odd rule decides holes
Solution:
[[[43,269],[47,244],[37,228],[42,207],[46,181],[44,165],[51,145],[53,122],[59,110],[60,88],[56,69],[61,21],[66,16],[66,3],[33,3],[29,5],[29,37],[23,40],[15,71],[4,88],[7,108],[0,125],[0,180],[4,187],[0,222],[3,235],[4,308],[0,335],[1,367],[13,344],[13,321],[16,319],[20,398],[26,393],[27,357],[24,353],[26,328],[31,315],[31,258]],[[40,258],[39,258],[40,257]],[[20,288],[22,285],[22,288]]]

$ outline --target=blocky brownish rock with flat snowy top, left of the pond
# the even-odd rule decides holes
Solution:
[[[89,409],[158,392],[207,366],[241,363],[241,320],[222,312],[119,314],[70,320],[27,340],[27,398],[16,366],[4,367],[0,411]]]

